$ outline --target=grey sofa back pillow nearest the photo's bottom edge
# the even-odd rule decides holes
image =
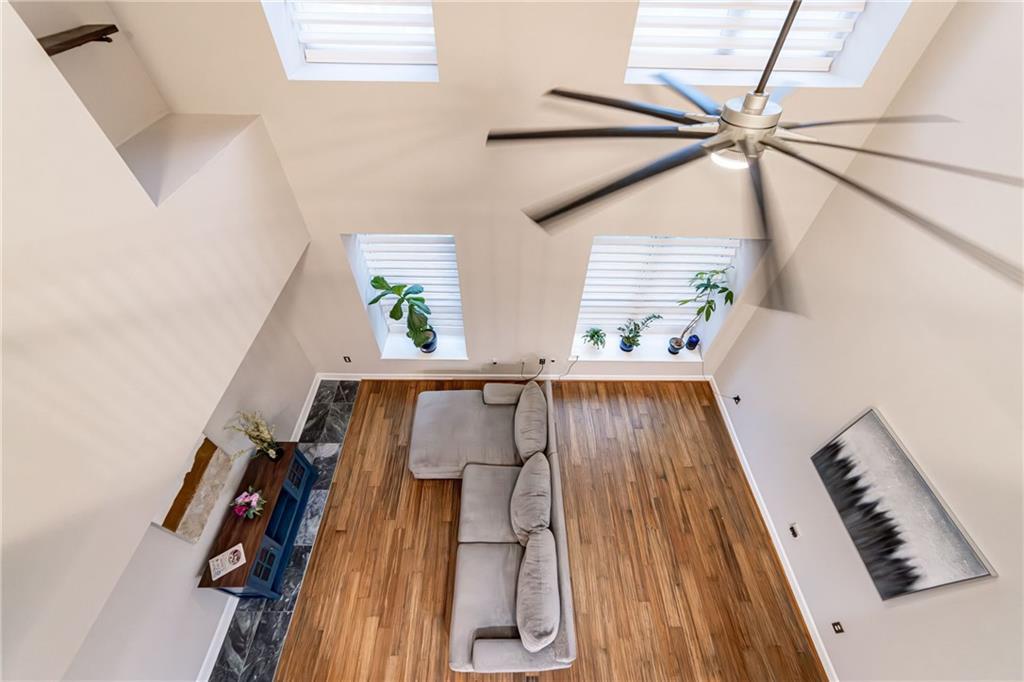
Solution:
[[[555,641],[560,611],[555,538],[550,530],[538,530],[526,543],[515,596],[523,648],[536,652]]]

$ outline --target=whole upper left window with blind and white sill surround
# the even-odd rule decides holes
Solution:
[[[430,0],[263,0],[293,80],[436,81]]]

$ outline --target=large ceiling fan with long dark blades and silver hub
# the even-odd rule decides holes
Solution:
[[[766,267],[768,268],[769,282],[774,281],[768,296],[762,305],[792,309],[792,292],[787,292],[785,282],[778,278],[779,257],[772,244],[774,235],[771,214],[768,207],[768,197],[765,193],[764,177],[761,169],[761,157],[766,152],[776,152],[796,161],[799,161],[811,168],[828,175],[842,184],[859,191],[865,197],[882,204],[895,213],[902,215],[920,227],[927,230],[933,237],[945,242],[949,246],[959,250],[966,256],[985,265],[992,271],[1008,280],[1022,285],[1024,274],[1020,265],[1010,262],[1001,256],[994,254],[978,244],[961,237],[954,231],[926,218],[920,213],[909,209],[899,202],[885,197],[873,189],[861,184],[859,181],[848,177],[836,170],[819,164],[818,162],[804,156],[798,147],[803,145],[826,146],[850,152],[859,152],[871,156],[884,157],[896,161],[904,161],[922,166],[938,168],[953,173],[961,173],[973,177],[983,178],[1006,184],[1024,186],[1024,181],[1019,177],[991,173],[984,170],[965,168],[952,164],[916,159],[898,154],[891,154],[880,150],[864,150],[844,144],[836,144],[824,140],[815,139],[798,130],[808,128],[819,128],[836,125],[851,124],[873,124],[873,123],[924,123],[924,122],[953,122],[945,116],[889,116],[869,119],[836,119],[830,121],[813,121],[806,123],[787,122],[782,120],[782,105],[775,98],[765,92],[768,86],[768,79],[775,68],[775,61],[782,51],[790,29],[793,27],[800,9],[802,0],[793,0],[790,10],[782,23],[775,45],[768,57],[761,80],[758,81],[754,91],[746,93],[743,97],[735,97],[719,104],[711,97],[700,92],[696,88],[679,82],[670,74],[662,74],[659,80],[668,85],[677,94],[694,104],[699,114],[691,114],[675,109],[650,104],[639,101],[629,101],[614,97],[588,94],[556,88],[548,94],[575,99],[580,101],[611,106],[626,110],[638,114],[671,121],[675,125],[658,126],[615,126],[604,128],[567,128],[554,130],[516,130],[516,131],[492,131],[487,135],[488,142],[531,140],[531,139],[562,139],[562,138],[583,138],[583,137],[667,137],[677,139],[698,140],[676,152],[668,154],[659,159],[655,159],[646,166],[635,171],[605,181],[591,189],[583,190],[571,199],[549,204],[544,208],[527,211],[527,215],[541,225],[566,216],[593,202],[601,200],[608,195],[625,189],[630,185],[647,180],[655,175],[685,166],[693,161],[712,154],[731,156],[740,163],[745,161],[745,166],[751,176],[753,185],[753,196],[756,204],[758,220],[760,222],[762,236],[767,242],[765,253]]]

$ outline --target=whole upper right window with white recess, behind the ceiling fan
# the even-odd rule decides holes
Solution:
[[[861,85],[907,4],[804,0],[773,82]],[[695,85],[753,85],[752,77],[764,69],[788,7],[787,0],[640,0],[627,82],[674,71],[684,72],[684,80]],[[855,33],[856,45],[850,41],[855,54],[841,59]]]

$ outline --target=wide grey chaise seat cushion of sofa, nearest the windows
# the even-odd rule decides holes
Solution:
[[[416,399],[409,469],[417,478],[460,478],[467,464],[516,465],[515,408],[470,391],[424,391]]]

